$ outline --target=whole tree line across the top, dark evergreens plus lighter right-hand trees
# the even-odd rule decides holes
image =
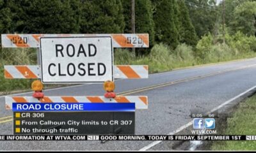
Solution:
[[[254,34],[255,0],[225,3],[228,31]],[[205,34],[221,33],[221,13],[215,0],[136,0],[136,33],[148,33],[151,47],[195,47]],[[1,0],[0,33],[131,33],[131,1]]]

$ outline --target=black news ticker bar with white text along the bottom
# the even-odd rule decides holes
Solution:
[[[60,140],[60,141],[184,141],[184,140],[256,140],[256,135],[0,135],[0,140]]]

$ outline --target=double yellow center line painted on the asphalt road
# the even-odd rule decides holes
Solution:
[[[198,78],[206,78],[206,77],[211,77],[211,76],[214,76],[214,75],[220,75],[222,73],[227,73],[227,72],[230,72],[230,71],[237,71],[239,69],[250,68],[250,67],[253,67],[253,66],[256,66],[256,64],[252,64],[252,65],[249,65],[249,66],[243,66],[243,67],[240,67],[240,68],[234,68],[234,69],[228,69],[228,70],[223,70],[223,71],[217,71],[217,72],[214,72],[214,73],[209,73],[207,75],[201,75],[201,76],[196,76],[196,77],[191,77],[191,78],[184,78],[184,79],[176,80],[176,81],[173,81],[173,82],[165,82],[163,84],[150,85],[148,87],[142,87],[142,88],[139,88],[139,89],[132,89],[131,91],[120,92],[120,93],[118,93],[116,95],[118,95],[118,96],[125,96],[125,95],[134,94],[134,93],[138,93],[138,92],[150,91],[152,89],[157,89],[157,88],[160,88],[160,87],[166,87],[166,86],[173,85],[173,84],[179,84],[179,83],[182,83],[182,82],[188,82],[188,81],[191,81],[191,80],[196,80]],[[13,116],[2,117],[2,118],[0,118],[0,120],[1,119],[7,119],[9,117],[13,117]],[[13,119],[3,120],[3,121],[0,121],[0,124],[4,123],[4,122],[10,122],[12,120]]]

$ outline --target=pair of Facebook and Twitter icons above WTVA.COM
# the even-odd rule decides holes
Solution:
[[[193,120],[194,129],[214,129],[215,128],[215,119],[194,119]]]

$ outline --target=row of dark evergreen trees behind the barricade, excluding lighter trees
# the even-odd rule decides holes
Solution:
[[[1,0],[1,33],[131,33],[129,0]],[[136,0],[136,33],[150,45],[196,44],[195,28],[184,1]]]

